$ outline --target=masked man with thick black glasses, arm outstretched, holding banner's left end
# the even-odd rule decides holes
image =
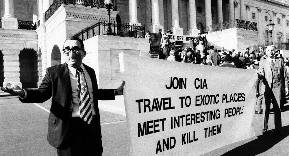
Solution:
[[[4,82],[0,89],[23,103],[43,103],[52,97],[47,140],[58,156],[102,155],[98,100],[123,95],[124,82],[117,89],[99,89],[95,71],[82,63],[86,56],[82,40],[68,37],[63,47],[65,63],[48,67],[39,88]]]

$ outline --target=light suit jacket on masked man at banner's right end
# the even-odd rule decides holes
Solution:
[[[278,66],[278,72],[279,72],[279,77],[280,77],[280,81],[281,81],[281,88],[282,91],[285,93],[285,87],[288,87],[288,78],[287,75],[285,73],[283,64],[282,64],[282,59],[275,59],[275,63],[277,63]],[[271,62],[269,62],[268,58],[261,60],[259,62],[259,74],[260,77],[259,79],[263,79],[262,83],[260,84],[261,89],[260,89],[260,94],[263,95],[268,95],[269,91],[272,89],[273,87],[273,72],[271,70],[271,66],[270,66]],[[285,79],[286,78],[286,79]],[[286,82],[286,83],[285,83]]]

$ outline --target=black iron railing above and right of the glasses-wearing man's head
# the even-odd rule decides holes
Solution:
[[[99,21],[79,31],[73,36],[84,41],[97,35],[145,38],[145,27],[142,25],[116,24],[115,22],[109,24],[106,21]]]

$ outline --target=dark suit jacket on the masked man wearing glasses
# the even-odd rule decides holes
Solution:
[[[94,106],[97,121],[97,135],[101,138],[98,100],[114,100],[114,89],[98,89],[95,71],[86,66],[92,81]],[[68,130],[68,122],[72,115],[72,89],[66,63],[46,69],[46,75],[38,89],[25,89],[27,98],[20,99],[23,103],[43,103],[51,98],[47,140],[55,148],[59,147]]]

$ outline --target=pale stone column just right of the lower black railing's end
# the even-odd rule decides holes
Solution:
[[[162,29],[164,32],[164,26],[160,25],[160,14],[159,14],[159,0],[151,0],[151,19],[152,23],[149,27],[151,33],[158,33],[159,29]],[[162,11],[164,9],[162,8]]]

